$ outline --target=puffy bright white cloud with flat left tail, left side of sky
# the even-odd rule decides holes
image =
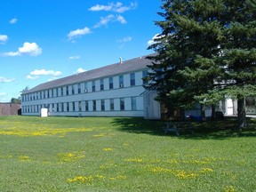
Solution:
[[[42,48],[40,48],[36,43],[28,43],[25,42],[22,47],[19,47],[17,52],[4,52],[4,56],[21,56],[21,55],[29,55],[29,56],[37,56],[42,54]]]

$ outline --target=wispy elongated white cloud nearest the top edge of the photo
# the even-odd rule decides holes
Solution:
[[[100,11],[106,11],[106,12],[127,12],[132,9],[135,9],[137,7],[136,3],[131,3],[130,5],[124,6],[122,3],[117,2],[116,4],[110,3],[107,5],[104,4],[96,4],[92,6],[89,11],[92,12],[100,12]]]

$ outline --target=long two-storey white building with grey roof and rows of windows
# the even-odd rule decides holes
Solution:
[[[160,107],[145,92],[147,56],[53,80],[23,92],[24,116],[145,116],[160,118]]]

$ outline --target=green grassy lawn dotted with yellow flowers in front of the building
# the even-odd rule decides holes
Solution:
[[[0,191],[255,191],[254,122],[223,124],[177,137],[140,118],[1,116]]]

